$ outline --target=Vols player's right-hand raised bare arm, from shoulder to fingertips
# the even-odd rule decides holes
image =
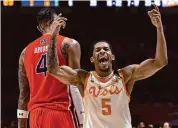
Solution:
[[[129,93],[135,81],[152,76],[168,63],[166,40],[158,7],[154,5],[154,9],[148,11],[148,15],[157,29],[156,54],[153,59],[147,59],[141,64],[133,64],[122,69]]]

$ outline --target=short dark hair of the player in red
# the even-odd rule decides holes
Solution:
[[[42,8],[36,16],[38,24],[52,22],[55,14],[57,13],[54,9]]]

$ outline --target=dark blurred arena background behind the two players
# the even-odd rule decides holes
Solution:
[[[7,1],[7,0],[6,0]],[[1,124],[16,121],[19,95],[18,59],[21,51],[40,36],[37,30],[36,13],[42,7],[23,7],[20,1],[6,6],[1,1],[2,31],[2,99]],[[138,7],[109,6],[97,2],[58,2],[57,12],[68,18],[62,35],[76,39],[82,50],[81,67],[90,70],[89,49],[95,40],[107,40],[114,48],[118,68],[154,57],[156,50],[156,28],[152,25],[144,1]],[[33,6],[33,5],[32,5]],[[48,6],[48,5],[47,5]],[[165,121],[178,126],[178,6],[159,6],[162,14],[169,63],[154,76],[136,82],[131,94],[130,109],[133,126],[140,121],[162,125]],[[15,123],[15,122],[14,122]]]

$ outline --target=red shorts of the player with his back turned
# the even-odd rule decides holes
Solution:
[[[74,128],[72,113],[36,108],[30,111],[30,128]]]

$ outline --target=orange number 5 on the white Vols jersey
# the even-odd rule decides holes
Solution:
[[[108,104],[110,102],[111,102],[110,98],[101,99],[103,115],[111,115],[111,105]]]

